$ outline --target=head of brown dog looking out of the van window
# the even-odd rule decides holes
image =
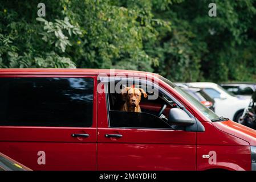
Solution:
[[[144,98],[148,97],[148,94],[143,89],[133,88],[133,87],[125,87],[121,90],[122,96],[125,98],[128,106],[138,107],[141,100],[141,94],[143,94]]]

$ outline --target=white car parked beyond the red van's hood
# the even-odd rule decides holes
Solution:
[[[212,82],[190,82],[186,85],[204,89],[210,97],[214,98],[215,113],[236,122],[238,122],[243,114],[243,110],[250,103],[250,98],[235,97],[220,85]]]

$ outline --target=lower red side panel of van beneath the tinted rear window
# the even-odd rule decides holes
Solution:
[[[0,151],[34,171],[96,170],[95,143],[0,142]]]

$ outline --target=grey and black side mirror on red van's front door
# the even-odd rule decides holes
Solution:
[[[172,108],[169,112],[169,125],[178,125],[178,126],[189,126],[193,125],[196,121],[190,118],[189,115],[182,109]]]

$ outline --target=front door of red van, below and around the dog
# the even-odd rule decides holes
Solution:
[[[175,106],[162,100],[168,96],[141,98],[141,113],[120,111],[115,110],[120,97],[109,92],[109,85],[98,93],[97,169],[196,170],[196,132],[170,127],[157,117],[162,104],[165,115]]]

